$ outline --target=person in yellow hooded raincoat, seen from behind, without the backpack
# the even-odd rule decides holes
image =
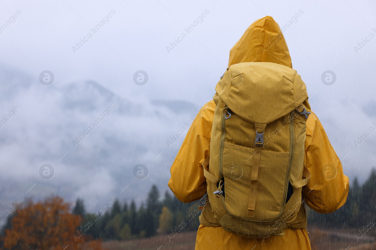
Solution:
[[[230,50],[229,67],[243,62],[271,62],[292,68],[290,53],[279,25],[271,16],[253,22]],[[182,202],[197,201],[207,192],[203,161],[210,155],[211,129],[215,103],[206,103],[194,119],[171,166],[168,186]],[[302,189],[302,199],[318,213],[332,213],[343,206],[349,192],[349,178],[314,112],[306,121],[304,164],[311,173]],[[331,162],[331,165],[327,163]],[[206,208],[204,208],[206,209]],[[210,209],[210,208],[209,208]],[[201,220],[201,218],[200,218]],[[245,238],[225,231],[221,226],[201,225],[196,250],[210,249],[311,249],[305,206],[285,229],[285,235]]]

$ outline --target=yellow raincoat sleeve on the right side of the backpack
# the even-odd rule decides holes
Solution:
[[[318,213],[332,213],[346,202],[349,177],[343,174],[341,161],[313,112],[307,120],[305,152],[311,179],[303,188],[304,200]]]

